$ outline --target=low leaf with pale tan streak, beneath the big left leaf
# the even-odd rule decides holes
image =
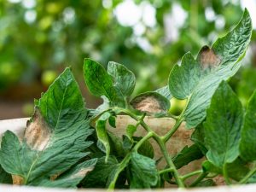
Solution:
[[[93,170],[96,165],[96,161],[96,159],[84,161],[78,166],[74,166],[64,174],[61,174],[61,176],[56,180],[43,180],[39,185],[51,188],[60,186],[61,188],[76,188],[85,175]]]

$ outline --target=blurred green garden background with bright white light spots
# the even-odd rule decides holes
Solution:
[[[0,119],[29,116],[33,98],[65,67],[73,68],[87,107],[96,107],[101,101],[84,86],[84,57],[125,64],[136,73],[137,93],[160,88],[184,53],[211,45],[245,7],[252,43],[230,79],[244,105],[256,89],[254,0],[0,0]]]

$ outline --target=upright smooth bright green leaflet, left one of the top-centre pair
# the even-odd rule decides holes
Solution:
[[[125,106],[125,101],[119,97],[113,85],[113,77],[107,73],[101,64],[90,59],[84,59],[84,81],[90,93],[94,96],[106,96],[110,105]]]

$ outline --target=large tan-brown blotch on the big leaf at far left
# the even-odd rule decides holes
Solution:
[[[46,148],[49,143],[50,129],[37,108],[32,116],[32,121],[27,121],[26,127],[26,143],[36,150]]]

